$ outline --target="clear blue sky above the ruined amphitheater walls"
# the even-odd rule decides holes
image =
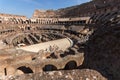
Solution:
[[[59,9],[90,0],[0,0],[0,13],[18,14],[31,17],[36,9]]]

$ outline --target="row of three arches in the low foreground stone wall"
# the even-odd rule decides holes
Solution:
[[[69,61],[68,63],[65,64],[64,68],[61,70],[72,70],[72,69],[76,69],[77,63],[76,61]],[[8,75],[21,75],[21,74],[29,74],[29,73],[39,73],[41,72],[41,69],[39,69],[41,67],[32,67],[31,65],[21,65],[21,66],[17,66],[17,67],[8,67],[8,68],[4,68],[4,75],[8,76]],[[10,73],[10,70],[14,70],[13,72]],[[40,70],[40,71],[39,71]],[[47,64],[42,68],[42,71],[46,72],[46,71],[57,71],[59,69],[57,69],[57,66],[53,65],[53,64]]]

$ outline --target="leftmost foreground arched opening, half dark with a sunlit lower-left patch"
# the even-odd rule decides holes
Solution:
[[[28,74],[28,73],[33,73],[32,69],[26,66],[21,66],[17,68],[16,71],[17,74]]]

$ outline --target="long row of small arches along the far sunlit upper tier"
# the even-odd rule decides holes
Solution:
[[[68,18],[66,18],[68,19]],[[77,21],[72,21],[72,20],[67,20],[67,21],[60,21],[59,18],[56,18],[56,19],[39,19],[39,18],[36,18],[34,20],[32,19],[26,19],[26,20],[23,20],[21,18],[8,18],[8,20],[3,20],[1,19],[0,20],[0,23],[6,23],[6,24],[57,24],[57,25],[65,25],[65,24],[86,24],[86,21],[87,20],[77,20]]]

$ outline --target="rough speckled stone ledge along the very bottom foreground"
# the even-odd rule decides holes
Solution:
[[[95,70],[52,71],[38,74],[8,76],[7,80],[107,80]]]

